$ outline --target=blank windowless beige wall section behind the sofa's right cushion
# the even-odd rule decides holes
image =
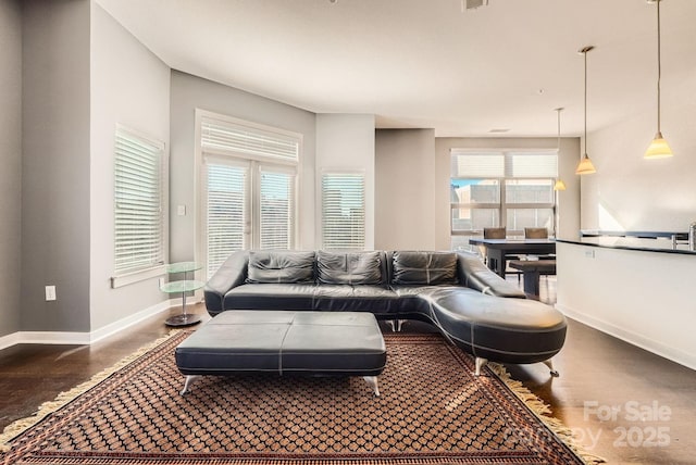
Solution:
[[[377,130],[375,162],[375,248],[434,250],[435,131]]]

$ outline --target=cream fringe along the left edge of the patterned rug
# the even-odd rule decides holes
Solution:
[[[53,399],[52,401],[44,402],[41,405],[39,405],[39,407],[36,411],[36,413],[34,413],[32,416],[17,419],[17,420],[11,423],[10,425],[8,425],[4,428],[4,430],[2,431],[2,433],[0,433],[0,453],[1,452],[8,452],[12,448],[10,442],[14,438],[20,436],[22,432],[26,431],[27,429],[29,429],[30,427],[33,427],[37,423],[41,422],[44,418],[46,418],[51,413],[53,413],[57,410],[61,409],[63,405],[70,403],[71,401],[73,401],[78,395],[87,392],[89,389],[91,389],[95,386],[99,385],[101,381],[103,381],[104,379],[109,378],[111,375],[116,373],[119,369],[121,369],[124,366],[128,365],[129,363],[136,361],[139,356],[145,354],[147,351],[149,351],[149,350],[156,348],[157,345],[163,343],[164,341],[166,341],[167,339],[174,337],[178,332],[181,332],[181,329],[171,330],[167,335],[162,336],[161,338],[159,338],[159,339],[157,339],[157,340],[154,340],[154,341],[141,347],[140,349],[138,349],[137,351],[133,352],[132,354],[125,356],[124,359],[120,360],[114,365],[110,366],[109,368],[105,368],[105,369],[97,373],[89,380],[87,380],[87,381],[85,381],[85,382],[83,382],[80,385],[75,386],[74,388],[70,389],[69,391],[64,391],[64,392],[59,393],[55,397],[55,399]]]

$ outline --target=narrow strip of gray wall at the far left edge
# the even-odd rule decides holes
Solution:
[[[0,2],[0,337],[20,329],[22,12]]]

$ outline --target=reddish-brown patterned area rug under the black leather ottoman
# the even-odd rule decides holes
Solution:
[[[203,377],[182,397],[174,348],[188,334],[8,427],[0,462],[583,463],[505,374],[475,378],[473,360],[438,335],[385,335],[378,398],[362,378],[266,375]]]

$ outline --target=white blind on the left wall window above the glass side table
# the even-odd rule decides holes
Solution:
[[[114,154],[114,272],[164,263],[164,143],[119,127]]]

